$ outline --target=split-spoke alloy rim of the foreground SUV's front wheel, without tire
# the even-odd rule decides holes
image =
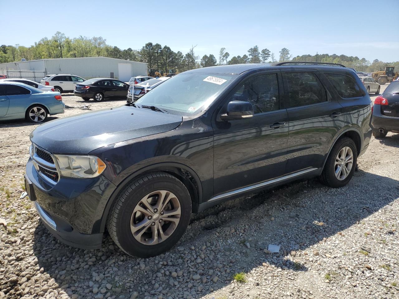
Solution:
[[[134,238],[144,245],[155,245],[169,238],[179,224],[179,199],[170,191],[158,190],[144,196],[130,219]]]

